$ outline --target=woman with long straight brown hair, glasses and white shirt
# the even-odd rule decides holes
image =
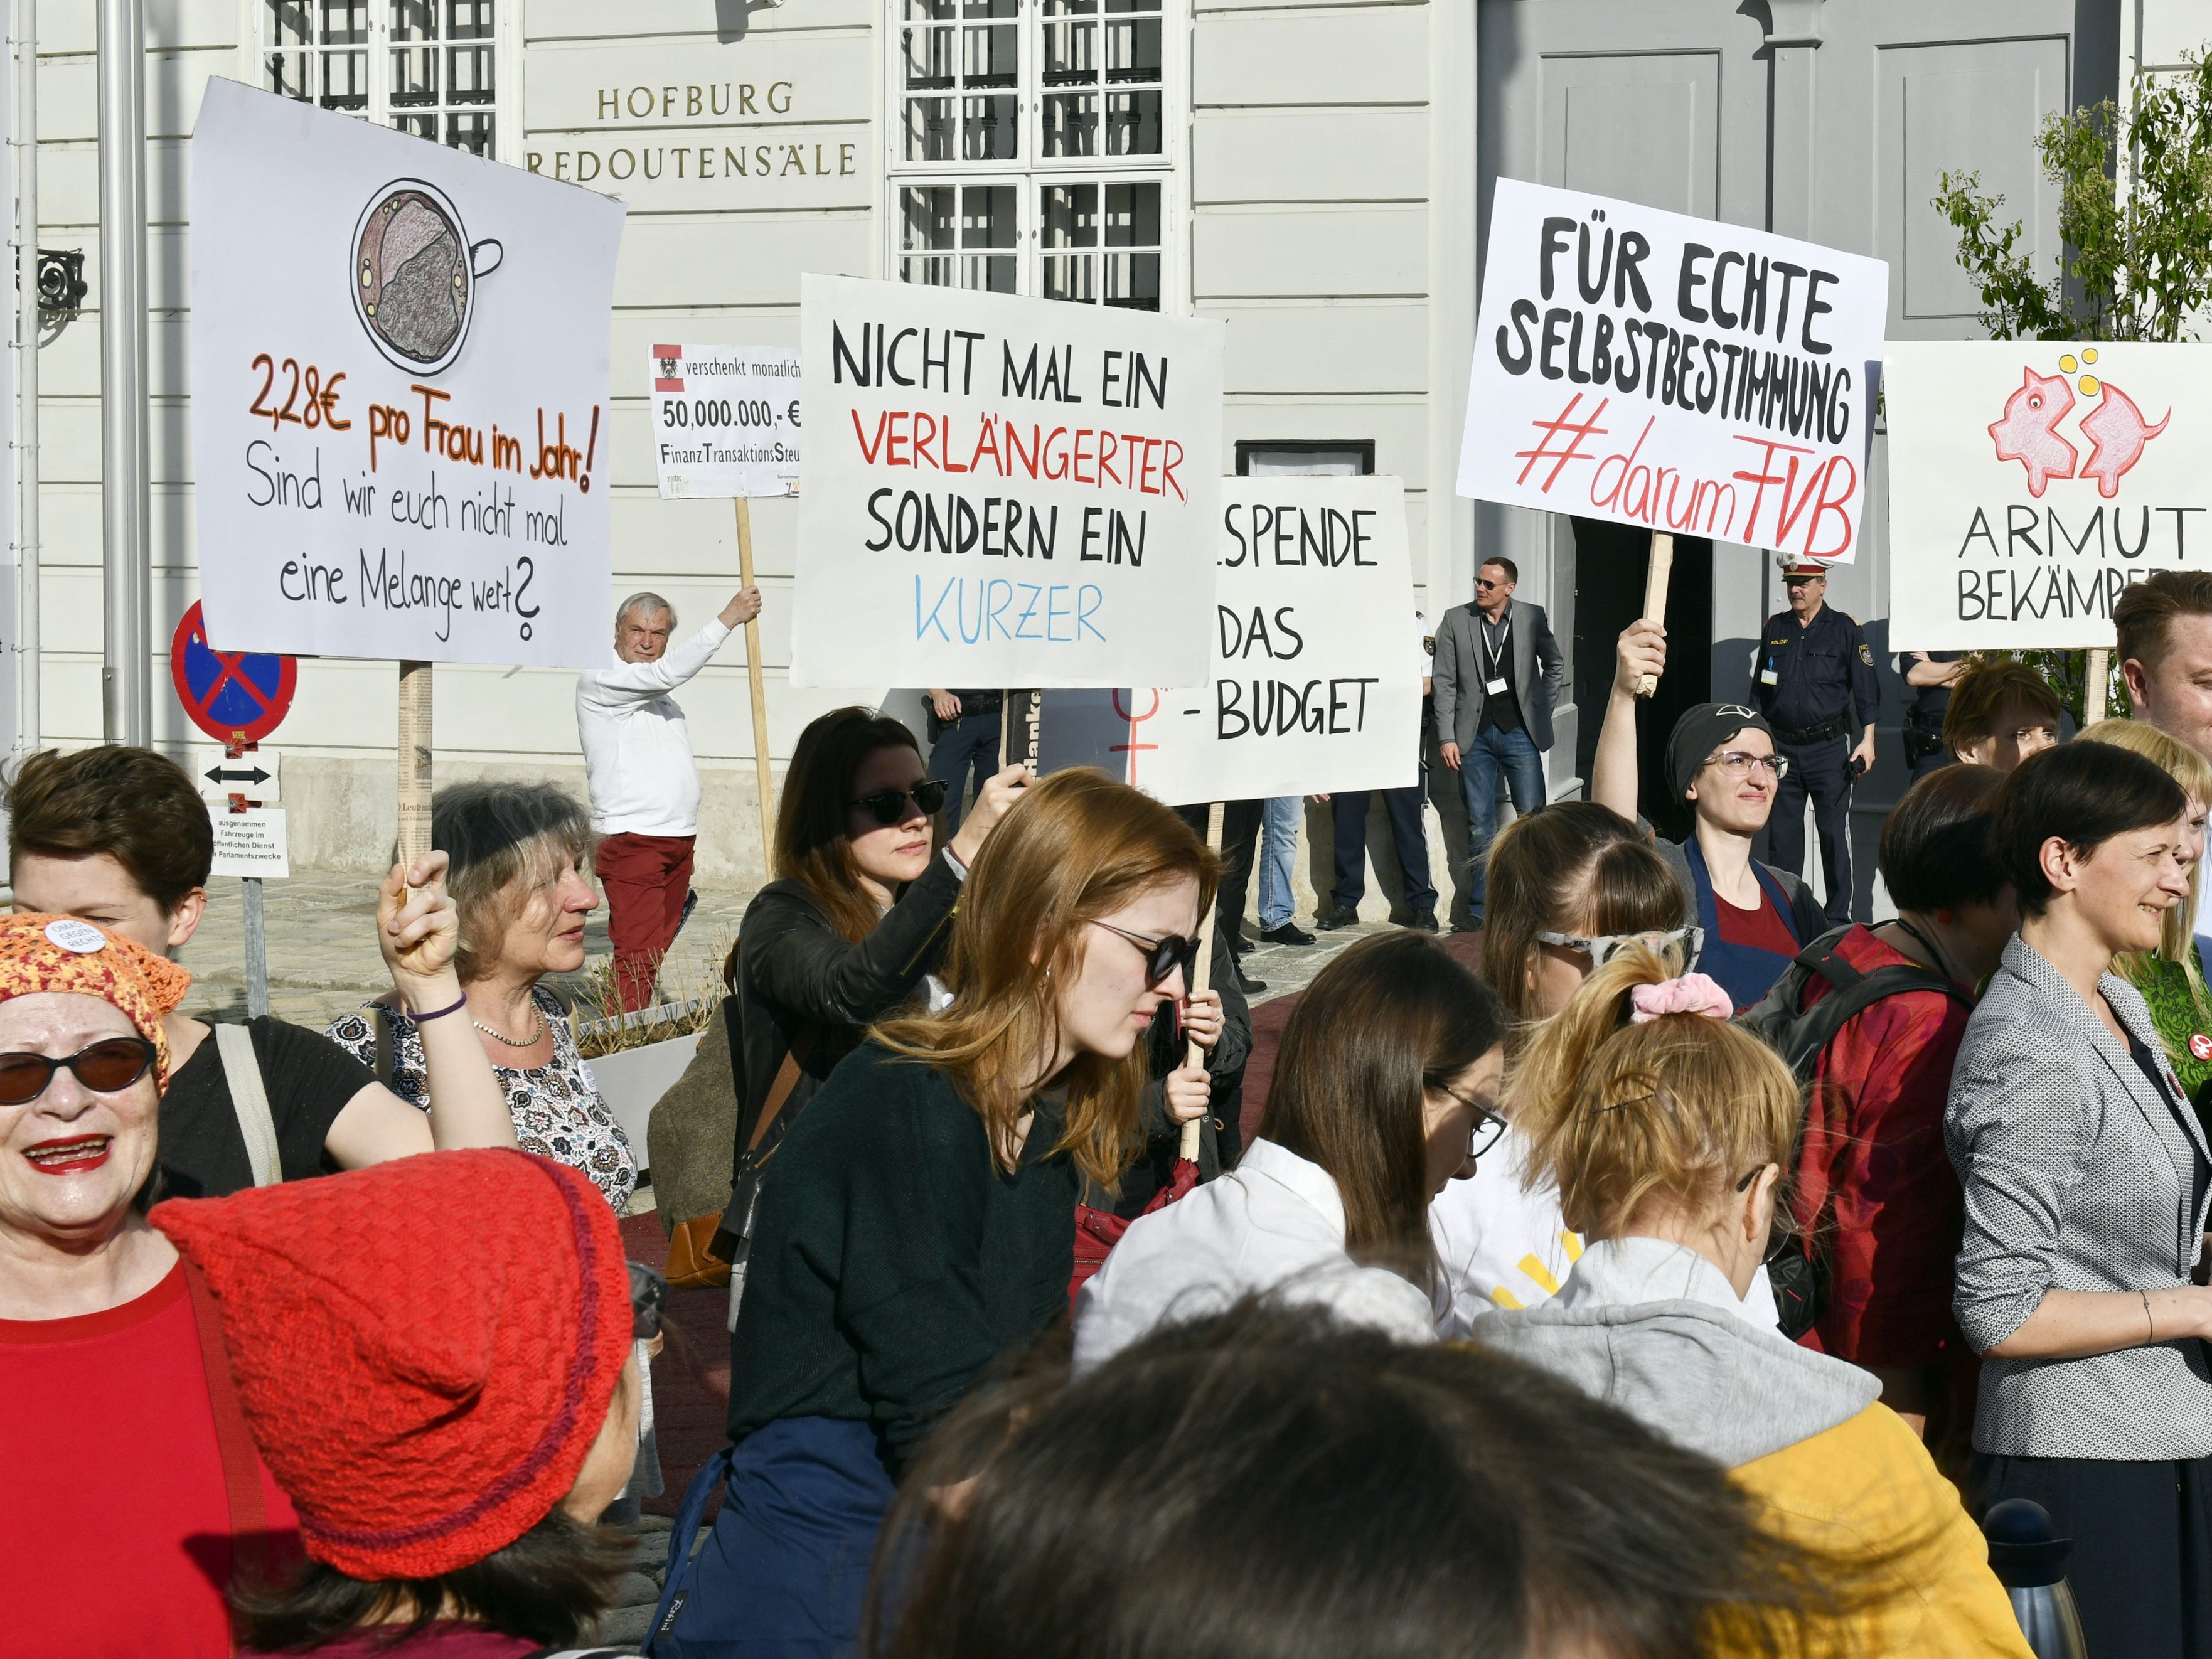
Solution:
[[[1155,1325],[1279,1292],[1405,1340],[1436,1334],[1429,1201],[1498,1137],[1504,1011],[1422,933],[1360,940],[1283,1029],[1234,1172],[1130,1230],[1075,1298],[1088,1369]]]

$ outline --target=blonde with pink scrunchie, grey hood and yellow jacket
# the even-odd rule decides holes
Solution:
[[[1728,991],[1677,969],[1621,951],[1515,1064],[1513,1133],[1586,1245],[1557,1296],[1473,1338],[1732,1469],[1792,1542],[1863,1566],[1812,1650],[2024,1659],[1982,1533],[1876,1378],[1750,1310],[1798,1086]]]

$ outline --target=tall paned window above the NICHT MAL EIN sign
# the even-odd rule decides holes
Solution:
[[[1168,0],[887,0],[909,283],[1159,310]]]

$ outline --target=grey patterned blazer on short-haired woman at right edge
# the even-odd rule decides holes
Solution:
[[[2166,1066],[2150,1009],[2106,973],[2121,1026]],[[2174,1091],[2179,1097],[2179,1088]],[[2020,936],[1966,1024],[1944,1146],[1966,1190],[1951,1307],[1989,1352],[2048,1290],[2190,1283],[2203,1130],[2143,1077],[2081,995]],[[1973,1444],[2011,1458],[2212,1455],[2212,1369],[2185,1336],[2079,1360],[1986,1360]]]

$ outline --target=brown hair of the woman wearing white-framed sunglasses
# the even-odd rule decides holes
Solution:
[[[1659,933],[1686,920],[1681,883],[1628,818],[1595,801],[1559,801],[1491,843],[1482,978],[1522,1024],[1535,1018],[1537,933]]]

